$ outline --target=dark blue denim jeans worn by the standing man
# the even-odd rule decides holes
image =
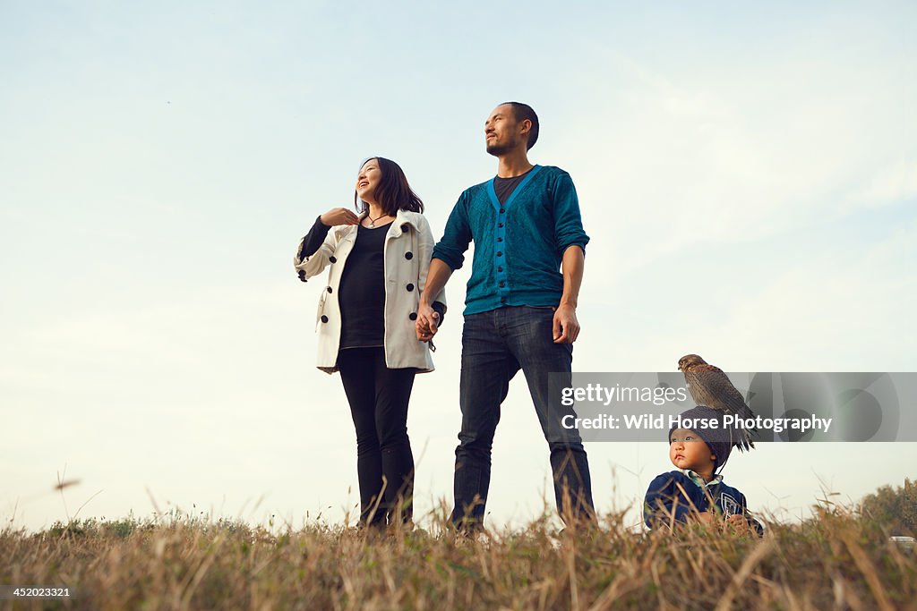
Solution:
[[[572,408],[548,396],[548,374],[569,376],[572,344],[554,344],[554,309],[506,306],[470,314],[462,330],[460,404],[462,413],[456,448],[455,507],[452,522],[474,529],[484,519],[491,484],[493,433],[510,380],[521,368],[535,403],[538,421],[550,449],[554,496],[560,517],[590,520],[592,485],[589,461],[580,433],[562,430],[558,421]]]

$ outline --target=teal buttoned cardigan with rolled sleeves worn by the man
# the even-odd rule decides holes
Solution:
[[[560,261],[571,245],[586,250],[580,202],[567,172],[535,166],[503,205],[493,179],[465,190],[449,214],[433,258],[458,269],[474,240],[465,314],[503,306],[557,306]]]

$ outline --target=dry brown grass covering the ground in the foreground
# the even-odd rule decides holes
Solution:
[[[456,540],[315,524],[271,531],[172,514],[0,533],[0,583],[66,584],[80,609],[917,609],[917,558],[875,522],[821,507],[763,540],[692,527],[526,529]]]

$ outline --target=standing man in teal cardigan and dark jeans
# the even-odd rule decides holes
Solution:
[[[493,433],[510,379],[522,368],[550,448],[555,500],[570,524],[594,519],[589,462],[580,435],[558,426],[572,413],[548,396],[548,374],[569,386],[573,342],[580,333],[577,298],[589,236],[569,174],[532,165],[538,117],[526,104],[497,106],[484,125],[497,176],[464,191],[433,249],[417,311],[417,337],[436,333],[430,304],[474,240],[465,300],[452,521],[479,528],[491,481]],[[558,271],[561,267],[563,273]],[[552,387],[553,388],[553,387]]]

